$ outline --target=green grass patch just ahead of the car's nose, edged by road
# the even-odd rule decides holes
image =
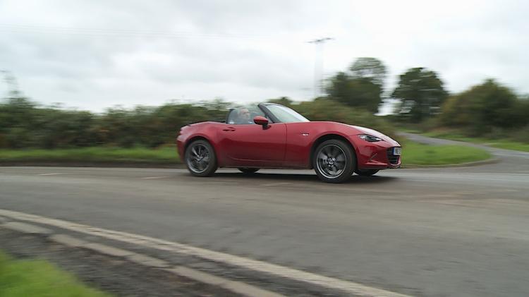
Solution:
[[[446,165],[482,161],[490,153],[477,147],[463,145],[423,145],[410,140],[401,143],[403,166]]]

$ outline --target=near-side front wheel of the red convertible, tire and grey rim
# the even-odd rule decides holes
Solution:
[[[343,140],[326,140],[316,147],[312,166],[322,181],[343,183],[355,171],[356,156],[351,145]]]

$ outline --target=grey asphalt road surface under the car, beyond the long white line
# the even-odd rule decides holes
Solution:
[[[491,151],[499,163],[339,185],[312,171],[0,167],[0,208],[400,293],[527,296],[529,153]]]

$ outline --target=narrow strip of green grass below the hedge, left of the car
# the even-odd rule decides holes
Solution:
[[[177,163],[176,147],[87,147],[63,150],[0,150],[0,162]]]

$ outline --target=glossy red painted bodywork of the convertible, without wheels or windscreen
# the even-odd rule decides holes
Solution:
[[[358,135],[382,141],[370,143]],[[176,140],[183,158],[191,140],[204,138],[214,147],[219,167],[312,168],[312,150],[324,138],[346,140],[356,154],[358,169],[388,169],[401,166],[400,156],[389,156],[399,143],[369,128],[330,121],[231,125],[202,122],[185,126]],[[391,160],[390,160],[391,157]]]

